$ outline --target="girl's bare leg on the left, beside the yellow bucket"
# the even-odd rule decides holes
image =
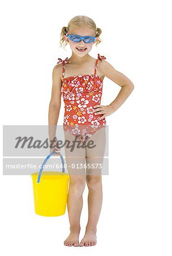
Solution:
[[[74,141],[74,135],[65,132],[65,139]],[[79,139],[77,138],[77,141]],[[68,173],[70,175],[70,187],[68,191],[67,209],[70,221],[70,235],[65,240],[67,246],[79,246],[80,215],[83,208],[83,192],[85,188],[85,148],[71,148],[65,146],[65,155]]]

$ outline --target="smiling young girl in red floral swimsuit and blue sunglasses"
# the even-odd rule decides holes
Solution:
[[[93,246],[97,243],[97,222],[102,206],[101,169],[95,170],[92,164],[101,164],[105,150],[105,117],[113,114],[127,99],[134,85],[126,76],[118,72],[98,53],[97,59],[88,53],[93,44],[98,44],[101,29],[87,16],[75,16],[67,27],[62,28],[61,45],[69,44],[72,50],[70,59],[58,59],[53,69],[53,87],[49,105],[49,126],[57,125],[61,108],[61,94],[65,103],[64,132],[65,139],[74,139],[85,147],[75,147],[73,151],[65,147],[70,188],[68,192],[68,217],[70,234],[66,246]],[[118,96],[107,106],[101,105],[102,84],[108,77],[121,86]],[[50,140],[55,137],[55,129]],[[89,142],[94,142],[90,147]],[[55,141],[57,143],[57,141]],[[88,147],[87,147],[88,146]],[[57,150],[54,148],[54,150]],[[50,150],[52,152],[53,149]],[[58,153],[57,153],[58,154]],[[86,172],[84,164],[86,161]],[[80,168],[71,168],[71,164],[80,164]],[[90,165],[89,165],[90,164]],[[89,166],[89,167],[87,167]],[[80,215],[83,207],[85,182],[88,185],[88,223],[85,235],[79,243]]]

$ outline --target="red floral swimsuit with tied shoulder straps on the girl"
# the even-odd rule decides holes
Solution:
[[[70,63],[68,57],[65,60],[58,58],[58,64],[63,64],[61,92],[65,104],[63,130],[78,136],[85,143],[96,131],[106,127],[106,119],[100,119],[102,114],[95,115],[94,105],[101,104],[102,79],[96,74],[98,60],[105,60],[100,56],[94,66],[94,74],[76,75],[65,78],[65,63]],[[98,112],[97,112],[98,113]]]

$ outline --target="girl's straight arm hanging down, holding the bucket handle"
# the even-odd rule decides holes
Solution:
[[[51,100],[49,104],[49,139],[50,141],[54,140],[53,144],[57,143],[57,139],[55,137],[56,126],[58,122],[59,112],[61,109],[61,71],[62,64],[55,65],[53,68],[53,85],[51,90]],[[55,143],[56,142],[56,143]]]

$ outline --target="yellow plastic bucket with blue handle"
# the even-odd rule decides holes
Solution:
[[[68,181],[70,176],[65,173],[64,160],[62,155],[62,172],[42,172],[44,164],[51,155],[57,153],[53,151],[42,163],[40,172],[32,174],[33,195],[35,212],[41,216],[60,216],[66,212],[68,197]]]

